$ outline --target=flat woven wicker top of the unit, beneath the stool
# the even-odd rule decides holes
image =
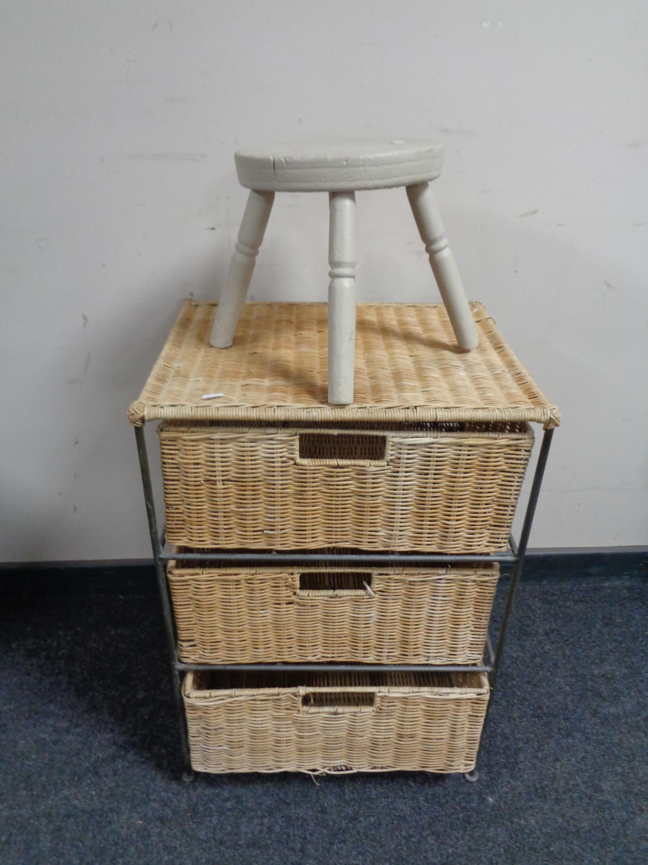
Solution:
[[[464,352],[442,304],[358,304],[353,406],[327,403],[327,304],[245,304],[229,349],[209,344],[217,304],[185,300],[130,423],[147,420],[533,420],[560,412],[480,303]],[[202,400],[204,394],[223,397]]]

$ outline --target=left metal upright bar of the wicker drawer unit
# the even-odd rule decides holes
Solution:
[[[164,619],[164,630],[167,634],[167,646],[171,666],[171,682],[173,683],[175,707],[178,715],[178,726],[180,727],[181,753],[182,762],[184,765],[184,772],[182,777],[185,780],[191,780],[195,777],[195,773],[194,770],[191,768],[191,758],[189,755],[187,726],[185,723],[184,708],[182,706],[181,678],[178,669],[177,650],[175,647],[173,616],[171,614],[171,606],[168,602],[167,578],[166,574],[164,573],[164,563],[161,559],[162,547],[160,544],[160,536],[157,532],[156,504],[153,499],[153,487],[150,480],[149,457],[146,452],[146,439],[144,439],[143,426],[135,427],[135,438],[137,439],[137,456],[139,457],[140,471],[142,471],[142,485],[144,490],[144,502],[146,503],[146,516],[149,517],[150,542],[151,547],[153,548],[153,556],[156,561],[157,586],[160,590],[160,600],[162,601],[162,618]]]

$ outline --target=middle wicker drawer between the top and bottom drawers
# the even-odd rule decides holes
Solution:
[[[497,565],[168,566],[186,663],[480,663],[498,577]]]

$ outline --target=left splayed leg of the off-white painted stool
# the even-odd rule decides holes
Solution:
[[[248,196],[225,287],[213,320],[212,336],[209,337],[209,342],[216,349],[226,349],[232,345],[274,200],[274,192],[255,192],[251,189]]]

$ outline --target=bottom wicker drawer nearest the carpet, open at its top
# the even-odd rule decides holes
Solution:
[[[483,673],[190,672],[198,772],[471,772]]]

